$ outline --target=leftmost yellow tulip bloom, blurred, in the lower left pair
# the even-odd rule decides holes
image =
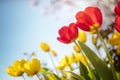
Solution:
[[[12,66],[7,67],[6,72],[14,77],[21,76],[23,74],[22,68],[26,60],[15,61]]]

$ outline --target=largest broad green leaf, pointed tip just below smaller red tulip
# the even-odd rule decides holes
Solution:
[[[114,80],[114,76],[106,63],[102,61],[89,47],[79,42],[81,49],[94,66],[96,72],[101,76],[102,80]]]

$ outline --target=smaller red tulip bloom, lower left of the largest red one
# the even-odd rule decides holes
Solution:
[[[75,41],[78,37],[78,28],[75,23],[71,23],[69,26],[63,26],[59,30],[60,37],[57,37],[62,43],[69,44]]]

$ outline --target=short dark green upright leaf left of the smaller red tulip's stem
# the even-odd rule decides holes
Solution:
[[[79,69],[80,69],[81,76],[83,76],[86,80],[91,80],[91,78],[88,75],[88,70],[87,70],[86,66],[81,62],[80,62]]]

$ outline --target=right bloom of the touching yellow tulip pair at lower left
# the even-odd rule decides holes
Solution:
[[[30,62],[26,62],[24,64],[23,71],[26,72],[28,76],[33,76],[34,74],[39,72],[40,68],[40,61],[34,58]]]

